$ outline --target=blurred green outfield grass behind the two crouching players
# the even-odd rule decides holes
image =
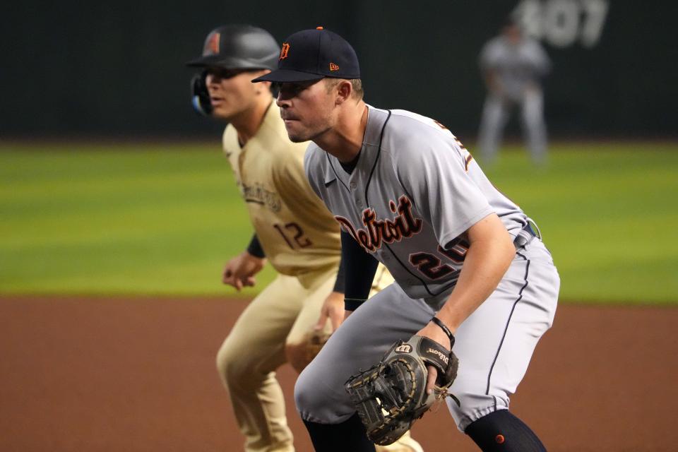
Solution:
[[[231,295],[251,227],[219,146],[0,143],[0,293]],[[678,144],[551,151],[487,173],[540,225],[561,298],[678,302]]]

